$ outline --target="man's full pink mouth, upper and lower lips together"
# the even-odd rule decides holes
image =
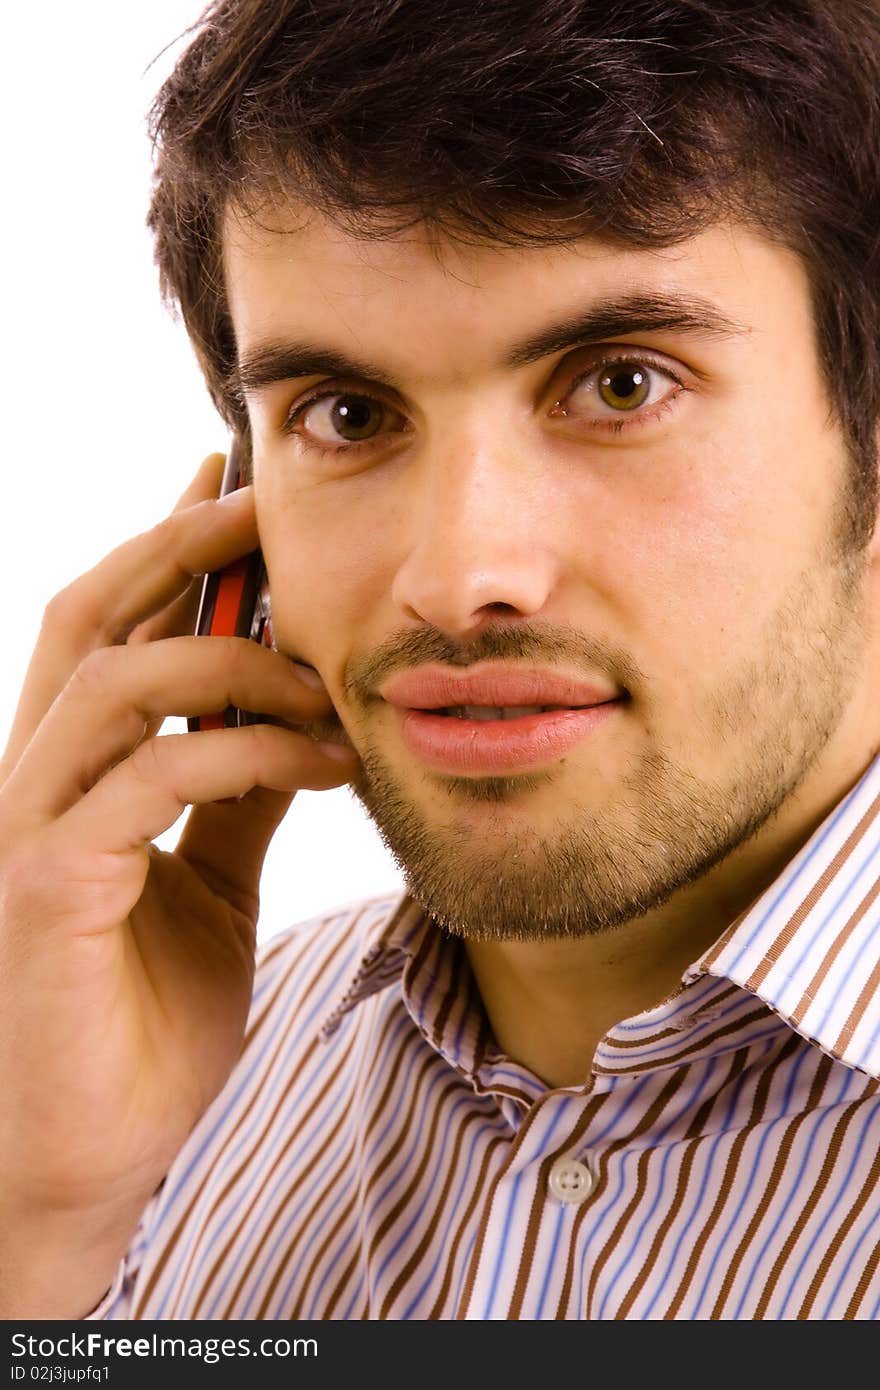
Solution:
[[[467,671],[421,667],[380,689],[395,709],[405,745],[438,773],[513,774],[552,763],[620,709],[620,691],[564,671],[485,664]],[[567,705],[517,719],[457,719],[453,705]]]

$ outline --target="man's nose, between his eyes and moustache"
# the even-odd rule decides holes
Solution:
[[[412,475],[392,599],[409,619],[467,634],[489,614],[534,616],[557,575],[541,468],[521,449],[446,439]]]

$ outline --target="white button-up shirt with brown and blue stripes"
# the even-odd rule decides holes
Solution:
[[[877,1319],[879,809],[880,758],[582,1086],[407,897],[271,938],[90,1316]]]

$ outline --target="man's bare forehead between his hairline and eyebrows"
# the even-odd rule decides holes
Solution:
[[[621,295],[699,297],[759,332],[812,334],[799,259],[728,224],[663,249],[598,238],[466,246],[424,225],[356,236],[291,200],[257,215],[228,208],[224,272],[239,356],[320,331],[356,356],[368,346],[409,379],[462,378],[553,314]]]

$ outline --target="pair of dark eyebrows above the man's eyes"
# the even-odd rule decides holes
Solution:
[[[722,313],[708,299],[694,295],[631,293],[603,299],[585,311],[549,324],[514,343],[500,360],[502,367],[527,367],[551,353],[633,334],[676,332],[696,338],[731,338],[751,328]],[[314,342],[256,343],[238,363],[234,385],[243,396],[259,395],[279,381],[298,377],[357,377],[399,391],[399,384],[378,363],[342,353]]]

